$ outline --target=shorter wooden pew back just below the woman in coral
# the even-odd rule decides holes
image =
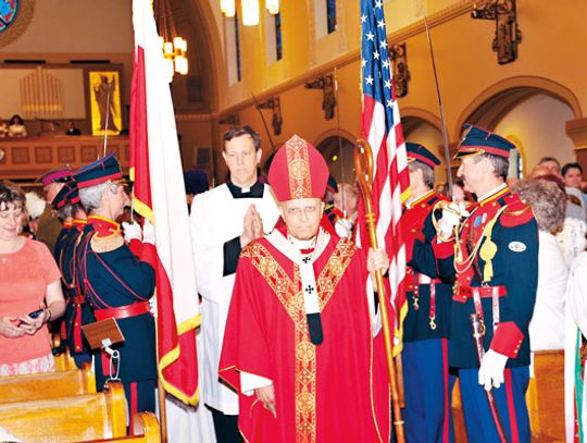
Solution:
[[[91,366],[85,369],[0,377],[0,404],[66,397],[96,392]]]

